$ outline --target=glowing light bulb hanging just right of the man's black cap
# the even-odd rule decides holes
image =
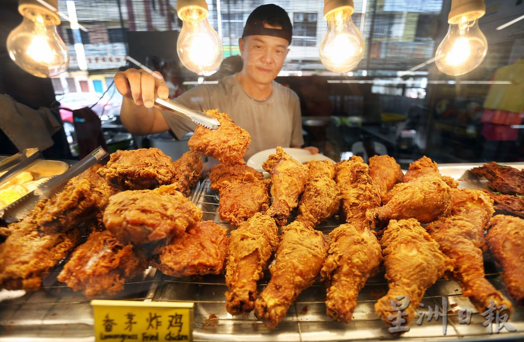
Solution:
[[[339,7],[325,16],[328,31],[320,45],[320,60],[326,69],[347,72],[364,56],[364,38],[351,20],[353,8]]]

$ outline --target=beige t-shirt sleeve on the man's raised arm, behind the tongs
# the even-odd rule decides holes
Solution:
[[[187,92],[184,92],[180,96],[174,99],[174,101],[180,103],[183,106],[194,109],[195,111],[201,111],[202,109],[209,108],[210,91],[208,86],[199,85],[191,88]],[[173,131],[174,135],[178,139],[182,138],[185,134],[190,131],[194,131],[196,124],[189,119],[185,119],[177,114],[173,114],[168,111],[162,111],[163,117],[166,119],[169,128]]]

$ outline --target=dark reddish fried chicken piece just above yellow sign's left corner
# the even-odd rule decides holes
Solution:
[[[74,250],[57,279],[91,299],[122,291],[124,282],[146,267],[145,256],[132,245],[122,245],[107,230],[95,231]]]

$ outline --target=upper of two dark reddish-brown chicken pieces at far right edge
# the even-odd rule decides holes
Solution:
[[[495,191],[509,195],[524,195],[524,171],[502,166],[494,161],[470,171],[487,179],[488,186]]]

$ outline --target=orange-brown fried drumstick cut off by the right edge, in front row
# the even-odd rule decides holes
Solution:
[[[493,216],[486,244],[502,268],[500,275],[509,295],[519,305],[524,305],[524,220],[507,215]]]

